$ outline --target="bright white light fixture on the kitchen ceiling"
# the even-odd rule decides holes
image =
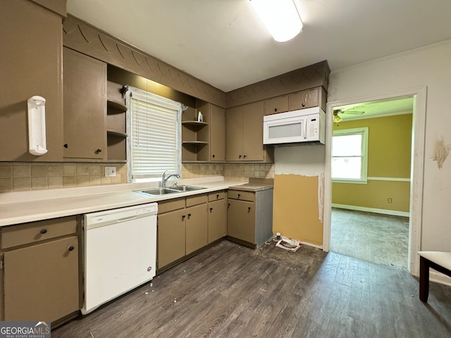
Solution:
[[[302,30],[293,0],[250,0],[255,11],[277,42],[286,42]]]

